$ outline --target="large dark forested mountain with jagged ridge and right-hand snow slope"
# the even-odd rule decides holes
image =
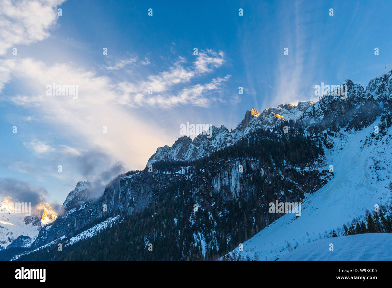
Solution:
[[[328,94],[315,103],[250,109],[236,129],[212,126],[211,138],[181,137],[151,156],[151,173],[146,167],[119,175],[102,193],[79,182],[32,247],[85,239],[85,231],[120,214],[134,217],[129,232],[116,233],[133,235],[127,245],[135,249],[149,239],[165,246],[162,239],[190,233],[173,240],[185,259],[216,259],[234,249],[243,259],[275,260],[326,238],[374,205],[392,201],[391,74],[386,68],[366,90],[345,80],[347,98]],[[194,162],[158,163],[164,160]],[[301,216],[270,214],[272,200],[301,202]],[[194,205],[199,214],[191,212]],[[239,241],[243,251],[235,248]],[[154,259],[166,259],[160,257]]]

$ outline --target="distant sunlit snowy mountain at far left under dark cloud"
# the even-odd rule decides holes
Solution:
[[[57,214],[52,207],[44,201],[29,209],[27,205],[15,206],[14,199],[5,197],[0,202],[0,250],[22,235],[30,239],[29,243],[32,242],[40,229],[52,223],[56,217]],[[19,241],[20,243],[26,242],[25,239],[22,241],[22,238]]]

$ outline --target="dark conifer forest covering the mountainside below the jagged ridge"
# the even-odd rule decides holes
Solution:
[[[283,132],[285,126],[289,134]],[[285,121],[275,131],[256,130],[200,160],[155,163],[152,173],[187,170],[179,181],[162,187],[153,205],[72,246],[63,239],[62,251],[52,245],[20,260],[216,260],[281,216],[270,214],[268,203],[300,202],[305,192],[325,184],[327,171],[303,169],[323,155],[321,142],[313,140],[319,130],[314,126],[314,134],[305,136],[300,121]],[[246,188],[238,195],[225,186],[213,193],[214,176],[232,169],[243,169],[239,181]],[[148,168],[142,173],[148,174]],[[314,179],[313,185],[299,185],[303,177]]]

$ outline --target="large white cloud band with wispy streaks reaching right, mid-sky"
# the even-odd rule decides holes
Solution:
[[[223,54],[209,52],[209,58],[221,58]],[[203,59],[204,53],[200,53]],[[217,67],[219,61],[203,60],[203,67]],[[204,84],[183,87],[192,78],[201,75],[196,69],[185,67],[185,59],[178,58],[167,71],[150,75],[145,81],[113,83],[109,76],[97,76],[73,64],[45,64],[33,58],[0,59],[3,67],[4,83],[10,79],[19,79],[29,87],[29,95],[3,97],[16,105],[36,110],[37,121],[49,123],[65,138],[82,137],[87,147],[96,147],[113,159],[119,159],[127,167],[144,167],[148,158],[156,151],[157,145],[171,143],[172,139],[164,129],[156,126],[153,119],[140,119],[130,109],[140,105],[158,105],[172,107],[174,105],[198,105],[207,107],[214,98],[209,94],[220,92],[223,82],[230,76],[217,77]],[[200,66],[200,62],[195,67]],[[220,63],[220,64],[219,64]],[[209,68],[210,69],[210,68]],[[204,72],[203,72],[204,73]],[[46,96],[46,85],[53,82],[60,85],[78,85],[79,97]],[[1,83],[1,82],[0,82]],[[176,85],[182,84],[180,87]],[[153,94],[148,94],[148,87],[153,87]],[[145,91],[144,91],[145,89]],[[17,93],[17,91],[16,91]],[[125,105],[124,105],[125,104]],[[103,133],[107,127],[107,134]],[[31,141],[25,143],[36,155],[54,151],[47,143]],[[82,153],[63,145],[56,149],[60,154],[78,155]],[[64,156],[65,157],[65,156]]]

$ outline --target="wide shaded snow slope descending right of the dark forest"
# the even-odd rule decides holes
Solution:
[[[244,242],[243,251],[236,248],[232,252],[245,259],[254,259],[257,252],[259,260],[274,261],[295,246],[325,238],[330,230],[363,216],[375,204],[391,201],[387,185],[392,165],[392,136],[370,139],[374,132],[372,126],[357,133],[342,133],[342,138],[332,137],[334,148],[325,149],[328,163],[325,168],[333,165],[334,177],[318,191],[305,196],[301,216],[285,214]]]

